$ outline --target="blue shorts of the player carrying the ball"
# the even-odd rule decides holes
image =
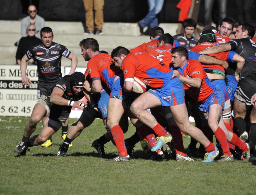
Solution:
[[[160,89],[150,89],[147,92],[160,99],[161,106],[176,106],[185,103],[184,87],[178,77],[171,79]]]

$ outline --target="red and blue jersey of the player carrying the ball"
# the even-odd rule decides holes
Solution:
[[[173,72],[158,59],[149,54],[130,53],[122,63],[124,80],[140,79],[147,86],[161,88],[165,86],[173,76]]]

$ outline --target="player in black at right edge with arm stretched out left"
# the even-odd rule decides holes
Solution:
[[[240,74],[235,75],[239,82],[234,95],[234,125],[238,128],[241,134],[240,138],[246,141],[248,139],[248,134],[246,132],[246,122],[244,119],[246,118],[246,115],[249,114],[247,113],[248,110],[251,109],[251,128],[249,134],[251,155],[254,155],[256,145],[256,107],[251,103],[251,98],[256,92],[256,44],[251,40],[254,33],[255,29],[251,24],[241,24],[237,27],[237,32],[235,34],[236,39],[200,52],[202,54],[212,54],[221,51],[234,50],[245,59]]]

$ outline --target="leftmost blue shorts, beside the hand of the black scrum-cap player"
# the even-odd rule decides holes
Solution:
[[[108,103],[109,103],[109,89],[106,89],[98,95],[98,108],[101,112],[102,119],[107,118],[108,116]]]

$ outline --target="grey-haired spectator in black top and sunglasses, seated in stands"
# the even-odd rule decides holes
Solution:
[[[27,53],[28,48],[32,45],[36,45],[37,43],[41,43],[40,38],[35,36],[36,27],[34,24],[29,24],[27,26],[27,35],[26,37],[22,37],[19,41],[18,49],[16,52],[16,63],[20,65],[22,57]],[[35,60],[31,58],[29,62],[33,63]]]

